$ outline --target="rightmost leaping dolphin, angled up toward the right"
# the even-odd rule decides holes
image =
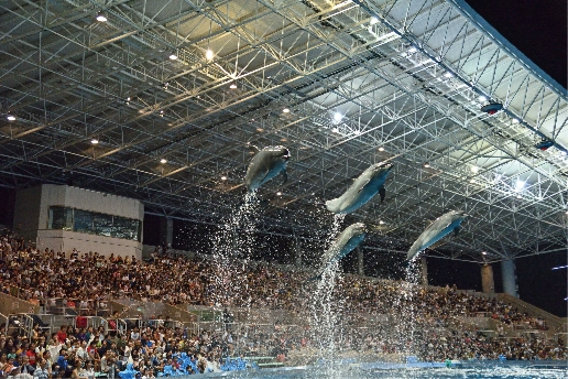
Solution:
[[[468,217],[469,215],[463,210],[451,210],[436,218],[412,245],[406,259],[413,259],[418,252],[433,246],[451,231],[458,235],[461,221]]]

